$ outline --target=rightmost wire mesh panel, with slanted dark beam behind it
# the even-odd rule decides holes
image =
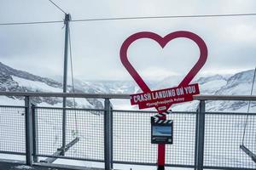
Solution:
[[[204,166],[256,168],[256,163],[240,149],[246,117],[246,114],[206,114]],[[256,154],[256,115],[248,120],[244,144]]]

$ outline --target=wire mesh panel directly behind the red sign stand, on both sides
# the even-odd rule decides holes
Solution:
[[[156,163],[157,144],[151,144],[150,116],[156,113],[113,111],[113,161]],[[172,113],[173,144],[166,146],[166,164],[193,165],[195,113]]]

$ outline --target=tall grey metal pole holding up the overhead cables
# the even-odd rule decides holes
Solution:
[[[63,73],[63,93],[67,93],[67,57],[68,57],[68,34],[69,34],[69,21],[71,17],[70,14],[65,14],[65,47],[64,47],[64,73]],[[65,155],[64,148],[66,146],[66,122],[67,122],[67,114],[66,114],[66,104],[67,98],[63,98],[63,114],[62,114],[62,153],[61,155]]]

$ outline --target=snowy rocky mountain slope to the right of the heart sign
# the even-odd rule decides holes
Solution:
[[[233,76],[224,77],[215,75],[212,77],[201,77],[195,82],[200,84],[201,94],[212,95],[250,95],[253,85],[254,70],[238,72]],[[256,88],[253,88],[256,94]],[[175,105],[175,111],[195,111],[197,101]],[[247,111],[248,101],[207,101],[207,111]],[[249,111],[256,111],[256,103],[252,102]]]

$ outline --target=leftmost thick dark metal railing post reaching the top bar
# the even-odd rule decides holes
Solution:
[[[32,104],[28,96],[25,97],[25,116],[26,116],[26,165],[32,165]]]

